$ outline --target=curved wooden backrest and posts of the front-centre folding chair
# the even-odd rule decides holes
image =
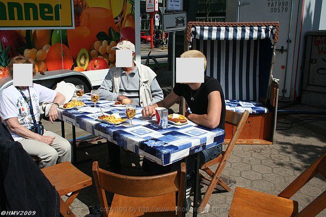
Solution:
[[[99,168],[98,162],[95,161],[93,162],[92,172],[104,217],[109,214],[105,191],[129,197],[154,197],[178,191],[177,216],[182,216],[186,178],[185,163],[181,164],[179,171],[155,176],[136,177],[106,171]]]

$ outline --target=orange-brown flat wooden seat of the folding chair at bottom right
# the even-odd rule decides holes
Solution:
[[[298,213],[295,200],[236,187],[229,217],[291,217]]]

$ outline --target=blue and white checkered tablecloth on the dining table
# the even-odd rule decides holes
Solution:
[[[83,96],[85,106],[93,105],[89,96]],[[113,101],[100,100],[103,111],[107,114],[119,113],[126,118],[125,107],[113,107]],[[98,106],[97,106],[98,107]],[[58,109],[61,120],[105,138],[119,146],[160,164],[168,165],[191,154],[217,146],[224,141],[223,129],[207,129],[193,122],[176,126],[169,124],[167,129],[160,129],[155,118],[152,121],[139,119],[142,107],[137,106],[136,116],[132,119],[133,127],[126,127],[129,120],[119,125],[110,125],[95,120],[101,112],[88,113],[79,109]]]

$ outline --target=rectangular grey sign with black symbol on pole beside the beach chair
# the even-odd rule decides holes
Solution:
[[[181,31],[187,28],[187,13],[169,13],[163,15],[164,32]]]

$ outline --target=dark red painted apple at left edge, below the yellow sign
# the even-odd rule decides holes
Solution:
[[[22,55],[24,48],[26,48],[25,39],[15,30],[2,30],[0,31],[0,40],[2,48],[5,49],[10,46],[9,56],[16,57]]]

